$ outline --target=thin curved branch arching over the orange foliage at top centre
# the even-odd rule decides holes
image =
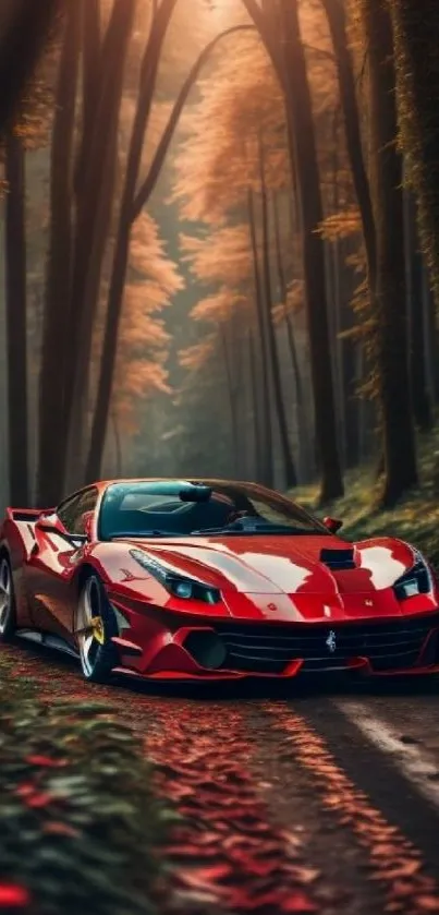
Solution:
[[[175,101],[168,124],[163,131],[162,137],[156,149],[154,159],[150,164],[148,174],[135,196],[131,215],[132,222],[135,222],[137,217],[141,215],[143,207],[149,200],[156,186],[166,155],[172,142],[176,124],[179,123],[180,116],[202,68],[207,62],[208,58],[210,57],[211,52],[214,51],[215,47],[218,45],[219,41],[221,41],[223,38],[227,38],[229,35],[235,34],[236,32],[248,31],[254,31],[254,25],[234,25],[231,28],[227,28],[224,32],[221,32],[220,35],[217,35],[216,38],[214,38],[205,47],[204,51],[202,51],[202,53],[199,55],[198,60],[195,62],[194,67],[192,68],[191,72],[188,73],[186,80],[183,83],[183,86],[180,91],[180,95]]]

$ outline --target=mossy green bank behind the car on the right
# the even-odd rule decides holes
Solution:
[[[379,482],[374,468],[351,471],[345,477],[345,495],[326,506],[325,514],[343,520],[343,534],[351,540],[373,535],[399,537],[439,566],[439,429],[418,440],[419,485],[392,510],[374,508]],[[295,501],[314,508],[318,485],[294,491]]]

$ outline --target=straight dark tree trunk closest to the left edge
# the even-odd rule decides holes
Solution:
[[[11,129],[5,139],[5,286],[9,484],[12,505],[29,505],[27,430],[27,321],[25,149]]]

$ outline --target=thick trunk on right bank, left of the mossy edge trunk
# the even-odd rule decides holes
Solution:
[[[363,0],[369,62],[370,186],[377,232],[377,321],[379,400],[385,481],[381,505],[395,504],[417,482],[408,372],[404,270],[402,159],[397,152],[393,38],[385,5]]]

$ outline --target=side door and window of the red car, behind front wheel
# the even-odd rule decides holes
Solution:
[[[89,486],[65,499],[57,509],[56,517],[72,538],[85,534],[84,514],[95,510],[97,499],[98,490]],[[33,626],[65,637],[72,627],[74,594],[71,582],[83,544],[81,540],[69,542],[61,534],[38,528],[35,537],[29,564]]]

